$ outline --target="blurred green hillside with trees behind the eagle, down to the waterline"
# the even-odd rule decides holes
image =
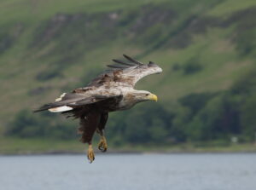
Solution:
[[[0,153],[81,152],[78,121],[32,110],[123,54],[164,72],[136,87],[158,103],[110,114],[110,151],[256,150],[255,1],[2,0],[0,9]]]

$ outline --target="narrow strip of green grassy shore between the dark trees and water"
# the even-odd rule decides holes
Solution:
[[[94,145],[94,151],[101,153]],[[132,145],[125,144],[116,147],[109,143],[107,154],[177,154],[177,153],[256,153],[256,144],[251,143],[230,143],[216,144],[209,143],[181,143],[170,145]],[[84,155],[87,146],[78,141],[56,141],[43,139],[15,139],[0,138],[0,156],[2,155]]]

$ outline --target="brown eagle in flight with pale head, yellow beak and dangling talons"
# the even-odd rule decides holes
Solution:
[[[160,66],[152,61],[143,64],[127,55],[124,57],[128,62],[113,60],[116,64],[108,65],[109,69],[86,87],[63,93],[55,102],[45,104],[35,111],[61,112],[67,117],[79,118],[79,133],[82,135],[81,141],[89,144],[87,158],[90,163],[95,159],[91,145],[95,132],[101,136],[98,148],[102,152],[107,151],[104,129],[108,112],[126,110],[142,101],[157,101],[156,95],[134,89],[134,86],[141,78],[162,72]]]

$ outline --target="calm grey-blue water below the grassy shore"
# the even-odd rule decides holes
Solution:
[[[3,190],[255,190],[256,154],[0,157]]]

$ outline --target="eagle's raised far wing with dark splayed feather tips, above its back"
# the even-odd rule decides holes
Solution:
[[[143,64],[127,55],[124,55],[124,57],[129,62],[113,60],[116,64],[108,65],[109,69],[91,81],[89,86],[99,86],[107,83],[124,83],[126,86],[134,87],[141,78],[162,72],[160,66],[157,66],[152,61],[149,61],[148,64]]]

